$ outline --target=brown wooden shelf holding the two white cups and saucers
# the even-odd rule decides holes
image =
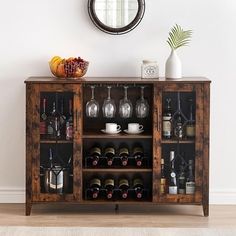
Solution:
[[[102,134],[102,133],[95,133],[95,132],[84,132],[83,138],[85,139],[151,139],[151,134]]]

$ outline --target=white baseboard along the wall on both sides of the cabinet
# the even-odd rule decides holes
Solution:
[[[0,203],[24,203],[25,190],[22,188],[0,188]],[[218,189],[210,191],[210,204],[236,204],[236,190]]]

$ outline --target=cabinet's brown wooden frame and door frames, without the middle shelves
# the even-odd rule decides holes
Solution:
[[[89,202],[83,199],[83,84],[151,84],[153,86],[153,130],[152,130],[152,200],[144,204],[195,204],[203,206],[204,216],[209,215],[209,112],[210,81],[205,78],[186,78],[170,81],[140,78],[85,78],[63,80],[32,77],[26,80],[26,215],[30,215],[33,203],[76,202],[80,204],[116,204],[116,202]],[[160,195],[161,146],[162,141],[162,93],[196,93],[196,138],[195,138],[195,182],[194,195]],[[40,193],[40,93],[74,93],[73,134],[73,193]],[[168,142],[167,142],[168,143]],[[140,204],[140,202],[118,202],[119,204]]]

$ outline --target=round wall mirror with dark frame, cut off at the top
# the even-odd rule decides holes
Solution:
[[[125,34],[142,20],[145,0],[88,0],[93,23],[109,34]]]

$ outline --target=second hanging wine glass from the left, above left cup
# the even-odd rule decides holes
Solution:
[[[116,114],[116,105],[113,99],[111,99],[111,86],[107,86],[107,99],[104,100],[102,111],[103,117],[114,118]]]

